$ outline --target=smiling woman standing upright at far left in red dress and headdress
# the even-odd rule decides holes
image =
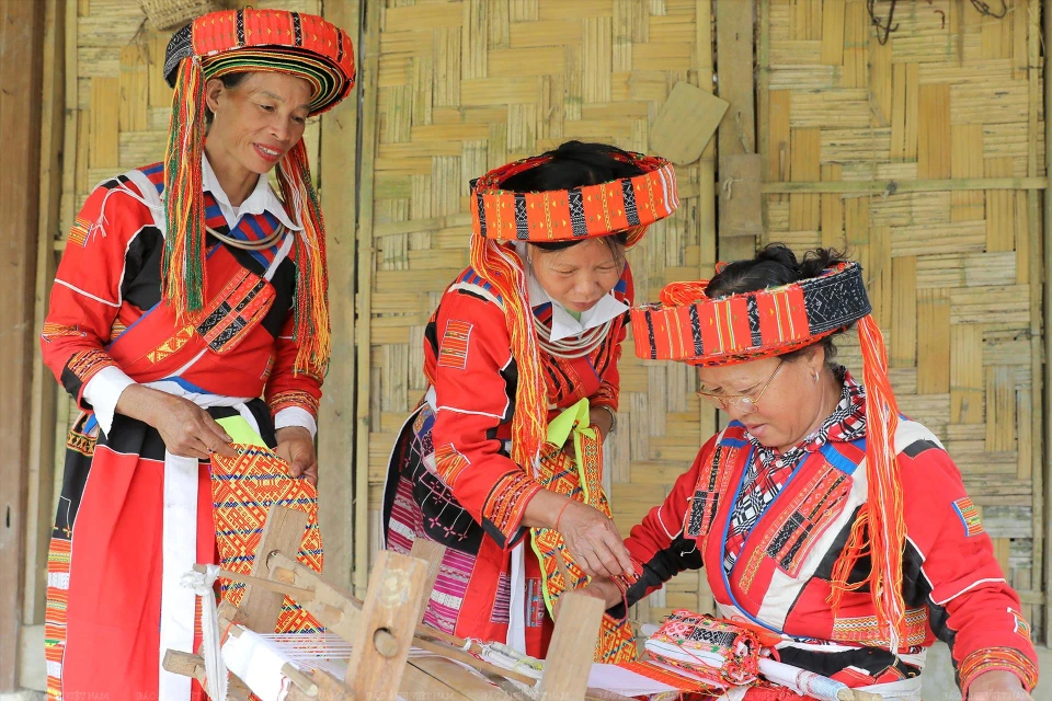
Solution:
[[[329,315],[302,135],[350,93],[351,39],[312,15],[216,12],[173,36],[164,76],[165,160],[90,195],[42,334],[85,412],[48,558],[55,699],[191,698],[190,679],[159,663],[195,646],[179,577],[215,562],[208,458],[233,455],[217,420],[241,416],[294,476],[317,481]]]

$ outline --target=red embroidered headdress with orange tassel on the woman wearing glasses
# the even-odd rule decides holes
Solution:
[[[905,639],[905,522],[894,446],[899,407],[862,268],[857,263],[841,263],[816,277],[718,299],[706,295],[708,284],[673,283],[661,291],[661,301],[632,309],[636,355],[698,366],[732,365],[798,350],[857,322],[866,386],[869,493],[834,565],[831,602],[835,609],[844,591],[868,584],[878,621],[890,629],[891,647],[897,650],[897,641]],[[851,567],[864,553],[872,562],[870,575],[849,585]]]

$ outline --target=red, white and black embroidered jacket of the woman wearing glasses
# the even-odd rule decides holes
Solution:
[[[626,544],[644,563],[628,591],[633,604],[684,570],[705,566],[719,612],[786,636],[782,662],[851,687],[919,674],[936,639],[952,652],[959,683],[1007,669],[1028,688],[1037,656],[1019,598],[994,558],[961,474],[936,437],[903,418],[895,436],[907,532],[903,559],[906,640],[896,658],[878,629],[868,587],[826,602],[833,563],[866,502],[866,440],[830,440],[802,459],[747,535],[731,572],[722,558],[732,504],[752,459],[733,422],[698,452],[665,502],[632,528]],[[864,558],[851,573],[859,582]],[[880,650],[881,647],[884,650]]]

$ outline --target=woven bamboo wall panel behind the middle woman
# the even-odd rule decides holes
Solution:
[[[423,324],[468,264],[469,179],[569,139],[648,151],[650,125],[678,81],[712,88],[710,12],[696,0],[397,0],[377,12],[375,123],[368,96],[365,117],[376,148],[363,162],[374,177],[373,219],[362,222],[362,250],[374,249],[363,309],[369,367],[359,376],[370,383],[369,432],[358,453],[374,528],[396,433],[426,389]],[[629,254],[638,298],[711,271],[713,156],[710,146],[677,169],[679,212]],[[626,342],[619,428],[606,446],[622,533],[665,497],[714,427],[695,386],[694,372],[639,361]],[[697,573],[677,579],[640,616],[707,609],[699,582]]]

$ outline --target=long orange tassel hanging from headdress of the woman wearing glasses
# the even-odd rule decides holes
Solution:
[[[851,528],[847,545],[834,563],[828,601],[836,611],[845,591],[869,584],[877,609],[877,622],[889,632],[889,650],[899,652],[906,637],[902,598],[902,553],[906,525],[902,507],[902,483],[895,452],[899,407],[888,379],[888,353],[872,315],[858,322],[866,386],[866,478],[868,499]],[[869,555],[869,576],[857,584],[847,579],[859,558]]]

